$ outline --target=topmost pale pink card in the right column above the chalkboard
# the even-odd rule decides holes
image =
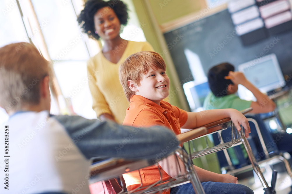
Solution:
[[[272,15],[276,15],[289,9],[290,5],[287,0],[274,1],[272,3],[268,3],[267,5],[259,7],[260,14],[263,19],[266,19]]]

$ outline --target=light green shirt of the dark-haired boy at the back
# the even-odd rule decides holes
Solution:
[[[210,92],[204,100],[204,108],[206,110],[234,108],[238,111],[241,111],[251,107],[251,102],[252,101],[242,100],[234,94],[223,97],[215,97],[215,95]]]

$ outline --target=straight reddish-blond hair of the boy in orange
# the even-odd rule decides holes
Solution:
[[[137,86],[140,86],[142,76],[146,75],[150,68],[153,70],[166,69],[162,57],[153,51],[134,53],[120,65],[119,79],[129,102],[131,97],[135,95],[135,92],[129,88],[128,80],[132,80]]]

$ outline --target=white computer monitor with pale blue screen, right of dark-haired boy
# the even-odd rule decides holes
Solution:
[[[263,93],[285,85],[284,76],[275,54],[269,54],[241,64],[238,66],[238,70],[243,72],[246,79]],[[246,90],[243,86],[239,86],[238,95],[241,99],[250,98],[251,92]]]

